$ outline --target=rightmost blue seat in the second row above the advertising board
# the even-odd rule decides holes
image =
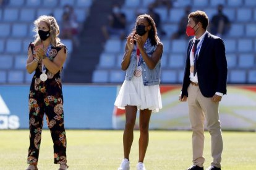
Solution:
[[[255,66],[254,54],[240,54],[238,57],[238,66],[240,68],[251,68]]]

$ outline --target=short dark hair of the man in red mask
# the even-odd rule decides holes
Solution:
[[[193,18],[195,23],[198,23],[198,22],[202,23],[203,29],[205,30],[207,29],[207,26],[209,24],[208,16],[202,10],[191,12],[188,18]]]

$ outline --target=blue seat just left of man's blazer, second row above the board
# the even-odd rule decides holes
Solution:
[[[183,54],[170,54],[169,68],[184,68],[185,59]]]

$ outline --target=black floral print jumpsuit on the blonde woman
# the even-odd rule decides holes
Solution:
[[[35,46],[30,43],[33,55],[35,55]],[[49,51],[49,59],[54,57],[66,46],[59,44],[58,47],[51,46]],[[35,57],[35,56],[34,56]],[[53,75],[46,68],[48,79],[41,81],[42,73],[41,62],[35,70],[29,93],[29,127],[30,127],[30,146],[28,148],[28,163],[37,163],[41,143],[41,131],[43,127],[43,116],[46,114],[46,121],[51,131],[51,138],[54,144],[54,163],[64,164],[66,160],[66,132],[64,129],[64,113],[63,113],[63,95],[61,86],[61,71]]]

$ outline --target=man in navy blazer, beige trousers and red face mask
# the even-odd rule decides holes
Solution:
[[[224,42],[207,31],[208,17],[197,10],[189,14],[186,33],[194,36],[187,48],[181,102],[188,101],[192,127],[193,164],[188,170],[203,170],[204,121],[211,135],[213,161],[207,170],[221,169],[223,140],[218,106],[226,94],[228,75]]]

